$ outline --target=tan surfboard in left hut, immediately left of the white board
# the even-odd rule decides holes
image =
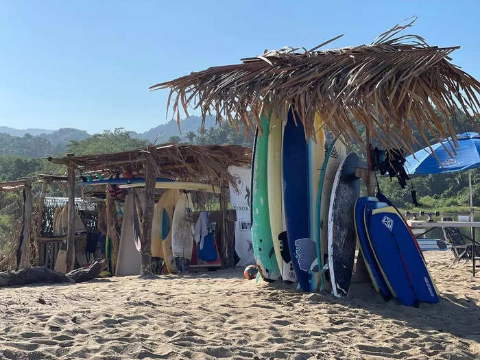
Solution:
[[[158,204],[163,208],[162,211],[162,248],[165,260],[165,266],[170,274],[177,271],[175,259],[173,259],[173,250],[171,249],[171,223],[173,219],[173,211],[180,198],[178,189],[167,189],[163,193]]]

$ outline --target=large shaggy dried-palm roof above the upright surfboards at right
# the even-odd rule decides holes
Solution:
[[[412,126],[426,143],[426,130],[438,139],[448,135],[455,139],[451,119],[459,109],[478,130],[480,83],[448,58],[459,47],[429,46],[417,35],[397,36],[413,21],[396,25],[370,45],[317,50],[337,36],[311,50],[265,51],[241,64],[211,67],[150,90],[171,89],[167,107],[173,97],[179,126],[180,108],[188,116],[187,108],[194,106],[204,117],[215,112],[220,122],[236,126],[243,121],[252,128],[268,104],[283,119],[287,106],[292,106],[307,136],[314,136],[313,119],[319,112],[335,135],[361,140],[353,118],[387,148],[412,150],[411,144],[419,141]]]

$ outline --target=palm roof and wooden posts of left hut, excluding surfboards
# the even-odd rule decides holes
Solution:
[[[152,255],[150,244],[152,241],[152,219],[154,215],[154,188],[157,177],[170,178],[176,181],[204,182],[220,187],[220,207],[222,213],[222,246],[227,249],[221,254],[224,267],[233,265],[233,259],[228,251],[231,234],[227,223],[228,188],[230,184],[236,187],[235,181],[228,172],[230,165],[250,165],[252,150],[239,145],[182,145],[163,144],[151,145],[144,149],[134,149],[127,152],[112,154],[94,154],[75,156],[68,154],[64,158],[49,157],[51,163],[67,166],[67,182],[69,204],[75,197],[75,170],[82,174],[100,174],[103,178],[118,175],[143,177],[145,179],[145,203],[143,207],[142,235],[141,235],[141,275],[152,274]],[[107,194],[107,228],[111,230],[113,211],[111,199]],[[109,211],[110,209],[110,211]],[[67,261],[74,252],[73,240],[73,208],[69,208],[69,231],[67,235]],[[113,231],[110,231],[112,235]],[[115,244],[115,241],[114,241]],[[115,247],[115,245],[114,245]],[[67,263],[67,271],[73,264]]]

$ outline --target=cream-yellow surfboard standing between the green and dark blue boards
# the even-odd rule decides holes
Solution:
[[[282,135],[283,123],[279,117],[272,114],[269,121],[267,150],[268,213],[278,269],[280,270],[283,280],[291,281],[289,264],[284,264],[282,259],[283,243],[278,239],[278,235],[284,230],[282,213]]]

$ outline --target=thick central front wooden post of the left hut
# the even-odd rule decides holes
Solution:
[[[156,164],[154,160],[148,159],[145,163],[145,201],[143,205],[142,216],[142,236],[141,236],[141,267],[140,275],[152,275],[152,222],[154,219],[154,192],[156,180]]]

